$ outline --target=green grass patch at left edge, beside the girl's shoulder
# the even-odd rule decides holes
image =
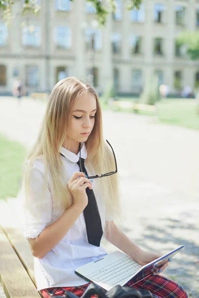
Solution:
[[[0,135],[0,199],[17,196],[25,156],[22,145]]]

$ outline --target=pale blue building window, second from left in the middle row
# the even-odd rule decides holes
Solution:
[[[23,27],[22,44],[25,47],[39,47],[41,45],[41,28],[39,26]]]

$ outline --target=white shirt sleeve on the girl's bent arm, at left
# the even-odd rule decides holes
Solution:
[[[52,199],[43,173],[33,167],[24,191],[24,236],[36,238],[51,223]],[[25,190],[25,187],[24,187]]]

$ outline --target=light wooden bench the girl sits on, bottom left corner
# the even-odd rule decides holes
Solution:
[[[41,298],[16,199],[0,201],[0,283],[6,298]]]

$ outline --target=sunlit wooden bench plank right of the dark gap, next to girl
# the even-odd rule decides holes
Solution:
[[[23,236],[21,220],[23,216],[21,212],[22,210],[20,204],[17,204],[17,199],[9,200],[8,203],[0,201],[0,225],[36,286],[33,256],[30,252],[28,241]]]

